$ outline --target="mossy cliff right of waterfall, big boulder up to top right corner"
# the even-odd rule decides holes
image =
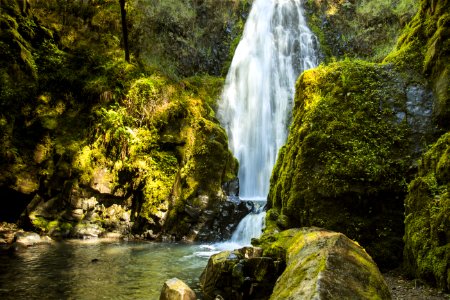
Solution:
[[[382,63],[345,59],[301,75],[288,141],[272,174],[268,231],[324,227],[360,242],[382,268],[401,262],[407,183],[426,147],[449,130],[447,11],[447,1],[421,1]],[[342,15],[327,18],[338,22]],[[339,57],[345,47],[342,39],[326,39],[329,30],[325,54]],[[349,56],[364,58],[358,53]]]

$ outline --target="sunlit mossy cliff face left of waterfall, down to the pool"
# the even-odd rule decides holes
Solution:
[[[128,2],[130,28],[147,17],[140,5]],[[0,217],[58,236],[227,238],[247,208],[222,188],[237,172],[213,110],[223,80],[181,79],[196,69],[181,72],[180,61],[145,64],[133,30],[125,63],[118,6],[2,0]],[[226,60],[202,68],[220,73]]]

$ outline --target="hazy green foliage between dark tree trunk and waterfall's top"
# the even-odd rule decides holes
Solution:
[[[171,78],[223,74],[249,8],[246,0],[137,0],[130,11],[133,52]]]

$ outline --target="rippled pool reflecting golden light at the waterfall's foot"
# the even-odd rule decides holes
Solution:
[[[186,244],[64,241],[3,253],[0,299],[159,299],[173,277],[198,293],[208,252]]]

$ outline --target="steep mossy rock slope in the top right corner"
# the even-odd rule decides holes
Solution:
[[[385,59],[407,76],[420,74],[429,80],[436,97],[436,121],[445,130],[450,129],[449,9],[446,0],[421,1],[418,13]]]

